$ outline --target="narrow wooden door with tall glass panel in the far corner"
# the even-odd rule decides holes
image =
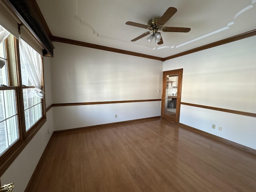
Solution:
[[[180,122],[182,74],[183,69],[163,72],[161,117],[177,124]]]

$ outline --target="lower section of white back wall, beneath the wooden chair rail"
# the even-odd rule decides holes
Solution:
[[[160,116],[160,105],[161,101],[54,107],[54,130]]]

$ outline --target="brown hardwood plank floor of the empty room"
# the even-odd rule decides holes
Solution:
[[[31,192],[255,192],[256,155],[161,119],[55,134]]]

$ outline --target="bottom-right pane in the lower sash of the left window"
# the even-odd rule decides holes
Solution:
[[[10,146],[18,139],[17,116],[14,116],[14,117],[6,120],[6,123],[7,123],[8,143]]]

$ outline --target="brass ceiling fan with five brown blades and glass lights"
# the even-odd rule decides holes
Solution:
[[[177,9],[174,7],[169,7],[166,12],[162,15],[162,17],[154,17],[148,21],[148,25],[135,23],[128,21],[125,24],[131,25],[135,27],[145,28],[150,30],[149,32],[145,32],[144,34],[132,39],[131,41],[134,42],[136,40],[139,40],[140,38],[147,36],[148,34],[152,33],[147,39],[149,42],[151,42],[154,37],[155,41],[158,45],[163,44],[162,35],[158,30],[161,30],[162,32],[189,32],[190,28],[184,28],[184,27],[164,27],[164,24],[177,12]]]

